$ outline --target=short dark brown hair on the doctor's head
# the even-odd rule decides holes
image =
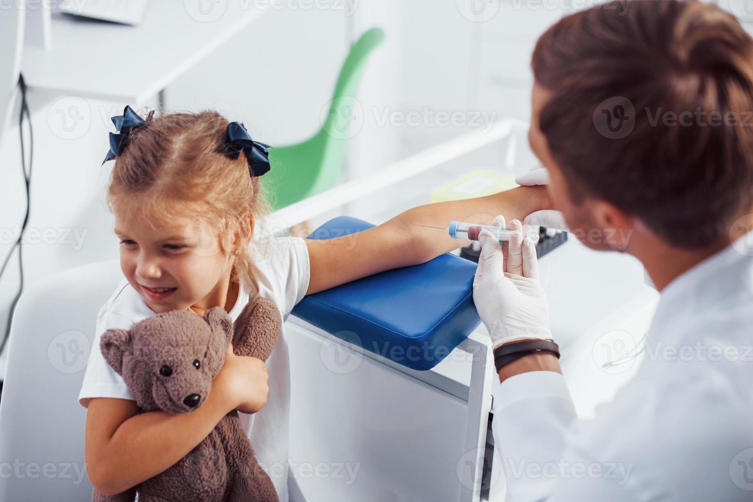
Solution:
[[[551,26],[532,69],[552,92],[540,129],[576,203],[608,201],[686,248],[721,243],[750,212],[753,41],[732,15],[610,2]]]

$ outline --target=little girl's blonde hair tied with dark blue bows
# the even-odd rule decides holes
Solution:
[[[248,172],[245,154],[225,155],[227,119],[214,110],[166,113],[134,128],[117,156],[107,190],[112,213],[123,210],[136,221],[154,228],[154,219],[169,222],[193,217],[213,225],[221,236],[221,253],[231,252],[234,235],[239,242],[230,280],[251,273],[248,244],[250,220],[269,211],[260,177]]]

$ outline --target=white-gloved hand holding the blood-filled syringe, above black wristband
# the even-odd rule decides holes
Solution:
[[[493,225],[505,225],[497,216]],[[508,230],[520,230],[513,220]],[[479,235],[481,254],[473,281],[476,310],[492,337],[492,349],[514,340],[551,338],[549,304],[538,282],[533,240],[520,235],[508,244],[508,258],[489,231]]]

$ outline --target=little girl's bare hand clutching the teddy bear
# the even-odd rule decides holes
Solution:
[[[256,413],[267,404],[270,391],[267,364],[259,358],[235,355],[232,343],[227,346],[225,364],[215,380],[230,410]]]

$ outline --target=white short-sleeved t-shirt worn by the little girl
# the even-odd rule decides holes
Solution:
[[[238,299],[230,310],[233,322],[249,301],[273,301],[283,322],[309,289],[309,253],[300,237],[273,237],[249,250],[252,277],[240,282]],[[96,334],[87,362],[78,402],[88,407],[90,398],[133,400],[123,377],[117,374],[99,350],[99,339],[109,328],[130,329],[136,322],[154,316],[138,292],[123,277],[115,292],[99,310]],[[258,413],[239,413],[256,458],[272,478],[281,501],[288,500],[288,425],[290,411],[290,358],[285,326],[267,359],[270,392]]]

